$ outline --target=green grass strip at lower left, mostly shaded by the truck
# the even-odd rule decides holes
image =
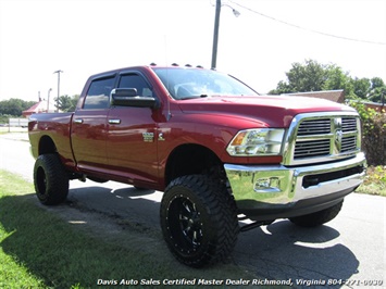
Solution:
[[[32,184],[0,171],[0,288],[101,288],[98,282],[108,280],[127,284],[133,279],[140,285],[151,279],[162,284],[182,278],[256,278],[232,262],[204,269],[186,267],[169,253],[159,233],[98,235],[87,224],[63,219],[55,210],[60,208],[38,203]]]

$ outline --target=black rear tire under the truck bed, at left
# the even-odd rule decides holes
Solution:
[[[34,185],[42,204],[59,204],[67,198],[69,176],[57,153],[41,154],[36,160]]]

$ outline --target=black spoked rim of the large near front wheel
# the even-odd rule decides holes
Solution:
[[[179,196],[170,202],[169,231],[174,247],[182,253],[194,253],[203,240],[203,223],[197,205]]]

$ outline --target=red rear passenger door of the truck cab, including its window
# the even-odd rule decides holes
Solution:
[[[87,173],[107,172],[105,140],[109,97],[115,76],[94,79],[80,109],[73,117],[72,144],[77,165]]]

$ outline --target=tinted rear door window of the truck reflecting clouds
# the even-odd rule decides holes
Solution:
[[[94,80],[87,91],[83,109],[95,110],[109,108],[110,92],[113,86],[114,77]]]

